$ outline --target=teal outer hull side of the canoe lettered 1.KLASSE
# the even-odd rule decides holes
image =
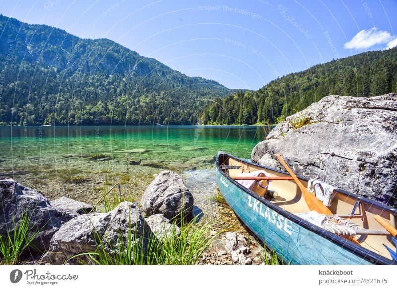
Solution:
[[[288,218],[290,213],[266,205],[267,200],[236,185],[220,170],[216,170],[216,177],[220,192],[240,220],[285,263],[324,265],[377,263],[370,257],[363,258],[358,246],[355,252],[355,245],[353,249],[351,245],[340,245],[330,237],[323,237],[318,230],[301,226],[296,220]],[[335,236],[335,238],[341,237]]]

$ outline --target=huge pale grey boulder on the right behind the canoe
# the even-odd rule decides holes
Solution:
[[[299,119],[310,123],[293,129]],[[357,98],[330,95],[278,124],[251,159],[390,205],[397,205],[397,94]]]

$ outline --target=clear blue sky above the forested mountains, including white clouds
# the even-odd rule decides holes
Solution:
[[[228,88],[397,45],[396,0],[0,0],[0,13],[109,38]]]

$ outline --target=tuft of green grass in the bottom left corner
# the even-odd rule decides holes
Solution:
[[[37,236],[32,233],[30,220],[32,216],[28,211],[21,215],[19,223],[13,220],[14,229],[9,230],[6,236],[0,236],[0,261],[2,264],[18,264],[22,253],[30,246]]]

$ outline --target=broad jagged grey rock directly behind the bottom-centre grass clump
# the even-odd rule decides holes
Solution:
[[[42,261],[64,264],[72,256],[95,252],[98,248],[99,251],[103,248],[112,254],[123,248],[123,244],[130,243],[129,237],[131,243],[140,246],[139,251],[145,254],[148,240],[154,236],[140,214],[137,203],[122,202],[108,213],[84,214],[63,224],[52,237],[50,248]],[[88,256],[81,259],[90,261]],[[71,259],[69,262],[74,264],[79,261]]]

